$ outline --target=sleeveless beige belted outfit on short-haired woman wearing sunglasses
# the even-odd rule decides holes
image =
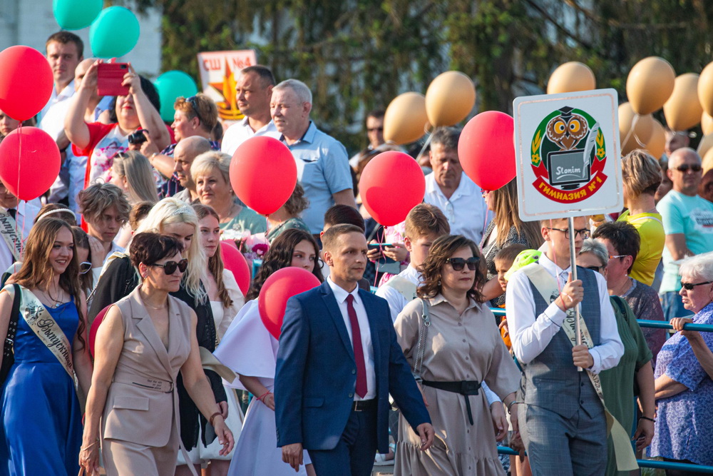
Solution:
[[[138,287],[116,306],[124,345],[106,397],[101,450],[106,474],[173,475],[180,448],[178,371],[190,354],[190,308],[168,296],[168,350]]]

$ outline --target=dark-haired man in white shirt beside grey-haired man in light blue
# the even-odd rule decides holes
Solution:
[[[237,148],[254,136],[279,138],[280,134],[270,117],[270,98],[275,76],[266,66],[248,66],[237,75],[235,93],[237,107],[245,115],[223,134],[220,151],[232,156]]]

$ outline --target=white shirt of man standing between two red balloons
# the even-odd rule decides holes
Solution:
[[[426,195],[424,202],[435,205],[441,209],[448,218],[451,226],[451,235],[463,235],[481,243],[483,231],[488,222],[493,219],[493,213],[488,211],[483,191],[465,173],[461,172],[461,183],[453,192],[451,198],[446,198],[441,187],[436,183],[436,175],[429,173],[426,176]]]

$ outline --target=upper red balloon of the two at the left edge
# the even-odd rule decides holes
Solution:
[[[0,71],[0,110],[16,121],[39,113],[52,96],[52,69],[34,48],[10,46],[1,51]]]

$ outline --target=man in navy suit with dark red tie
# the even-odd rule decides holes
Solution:
[[[434,427],[396,343],[386,300],[359,290],[366,238],[336,225],[322,236],[329,278],[290,298],[275,373],[277,446],[297,470],[303,448],[323,475],[371,475],[389,447],[389,393],[431,447]],[[354,345],[356,343],[356,345]]]

